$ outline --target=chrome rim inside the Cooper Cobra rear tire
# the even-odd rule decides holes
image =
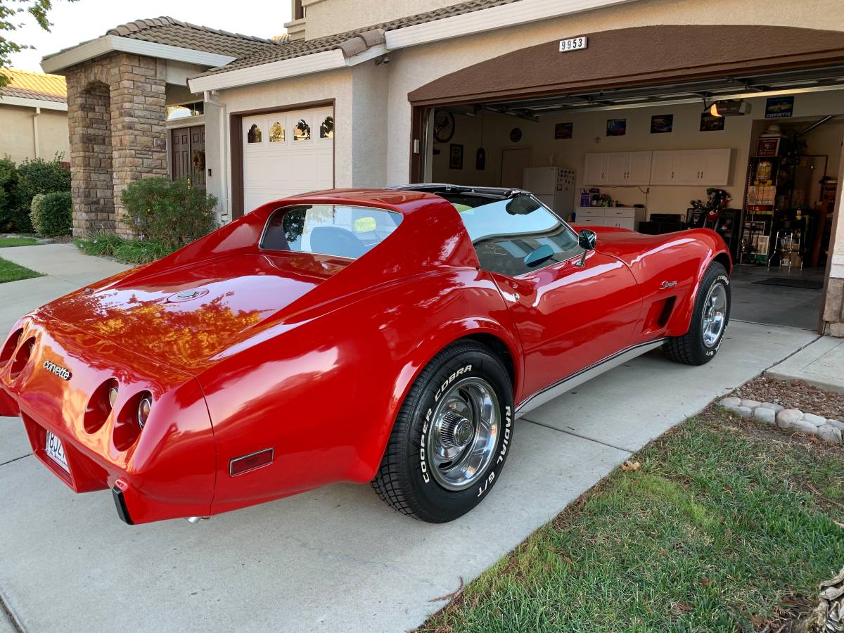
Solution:
[[[443,488],[475,484],[495,455],[501,414],[498,398],[482,378],[463,378],[442,394],[425,441],[431,474]]]

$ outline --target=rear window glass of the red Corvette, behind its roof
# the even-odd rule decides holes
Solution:
[[[402,215],[380,208],[302,204],[279,208],[267,220],[260,247],[357,259],[385,240]]]

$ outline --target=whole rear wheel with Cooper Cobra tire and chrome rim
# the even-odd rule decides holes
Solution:
[[[489,494],[512,441],[512,386],[490,349],[458,342],[430,361],[399,409],[372,487],[395,510],[452,521]]]

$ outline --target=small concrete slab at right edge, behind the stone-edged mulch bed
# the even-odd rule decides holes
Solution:
[[[779,380],[798,380],[844,393],[844,338],[825,336],[766,371]]]

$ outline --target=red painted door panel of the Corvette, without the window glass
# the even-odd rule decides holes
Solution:
[[[522,341],[525,398],[630,345],[642,297],[627,266],[598,250],[517,276],[491,273]]]

